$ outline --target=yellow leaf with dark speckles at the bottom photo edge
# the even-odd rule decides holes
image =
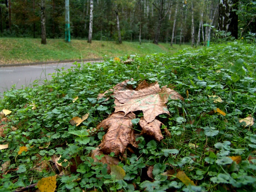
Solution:
[[[37,187],[41,192],[54,192],[56,189],[56,176],[42,178],[38,181]]]

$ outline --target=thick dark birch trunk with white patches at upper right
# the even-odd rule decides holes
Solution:
[[[233,9],[238,10],[238,0],[219,1],[219,30],[231,32],[231,35],[238,38],[238,15]]]

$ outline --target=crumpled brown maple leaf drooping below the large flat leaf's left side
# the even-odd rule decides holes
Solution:
[[[124,114],[124,112],[112,113],[108,118],[101,121],[97,125],[97,129],[103,127],[104,130],[108,129],[108,132],[103,136],[101,144],[99,145],[100,151],[104,154],[110,154],[114,152],[115,155],[123,154],[128,144],[132,144],[137,147],[135,143],[135,132],[132,129],[132,119],[135,118],[135,114],[130,112]]]

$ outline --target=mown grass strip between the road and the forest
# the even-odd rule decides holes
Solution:
[[[32,63],[38,61],[63,61],[79,59],[99,59],[106,56],[117,57],[124,55],[146,56],[152,53],[176,53],[189,45],[169,44],[155,45],[147,42],[123,42],[118,45],[113,41],[47,39],[46,45],[41,45],[41,39],[34,38],[0,38],[0,65]]]

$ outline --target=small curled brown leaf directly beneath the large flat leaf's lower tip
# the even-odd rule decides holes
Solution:
[[[151,123],[147,123],[147,121],[142,117],[140,118],[139,125],[142,128],[141,135],[148,135],[157,141],[161,141],[163,139],[163,135],[161,133],[161,125],[162,122],[157,119],[153,120]]]

